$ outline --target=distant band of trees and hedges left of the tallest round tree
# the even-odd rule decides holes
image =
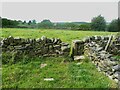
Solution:
[[[90,30],[89,23],[85,22],[58,22],[53,23],[50,20],[43,20],[37,23],[36,20],[21,21],[2,19],[3,28],[42,28],[42,29],[69,29],[69,30]]]

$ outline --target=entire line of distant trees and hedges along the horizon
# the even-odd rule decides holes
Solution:
[[[93,17],[90,23],[87,22],[51,22],[43,20],[39,23],[36,20],[21,21],[1,18],[2,28],[42,28],[42,29],[69,29],[69,30],[95,30],[95,31],[120,31],[120,20],[114,19],[107,23],[103,16]]]

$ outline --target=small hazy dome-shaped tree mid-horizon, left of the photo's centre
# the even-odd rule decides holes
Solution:
[[[50,28],[53,28],[53,23],[50,20],[45,19],[41,23],[38,24],[38,27],[50,29]]]

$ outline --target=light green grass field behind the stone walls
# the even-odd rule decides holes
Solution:
[[[2,29],[2,37],[14,36],[23,38],[40,38],[46,36],[48,38],[60,38],[64,42],[71,43],[74,39],[83,39],[93,35],[111,35],[113,32],[98,31],[75,31],[75,30],[54,30],[54,29]]]

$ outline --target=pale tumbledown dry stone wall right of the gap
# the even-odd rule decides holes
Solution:
[[[113,36],[86,38],[84,40],[84,54],[90,58],[99,71],[104,72],[105,75],[118,83],[120,81],[120,60],[114,56],[120,56],[120,37],[114,38],[113,41],[111,39],[110,42],[111,37]]]

